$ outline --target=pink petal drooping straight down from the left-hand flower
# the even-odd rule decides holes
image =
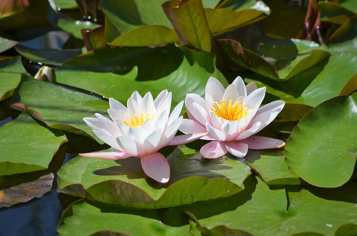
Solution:
[[[140,158],[145,174],[159,183],[167,183],[170,178],[170,166],[166,158],[159,152]]]

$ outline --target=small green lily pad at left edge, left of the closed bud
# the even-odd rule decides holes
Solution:
[[[0,101],[12,95],[20,83],[21,73],[26,73],[21,57],[11,57],[0,61]]]

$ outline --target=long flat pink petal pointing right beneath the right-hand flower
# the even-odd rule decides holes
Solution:
[[[242,143],[248,145],[249,149],[278,149],[285,146],[285,143],[279,139],[255,136],[252,135],[244,140]]]

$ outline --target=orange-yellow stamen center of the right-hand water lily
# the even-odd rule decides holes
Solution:
[[[232,104],[231,99],[228,100],[228,104],[220,99],[220,103],[215,102],[211,110],[215,115],[227,121],[237,121],[248,116],[248,108],[244,104],[238,105],[238,102]]]

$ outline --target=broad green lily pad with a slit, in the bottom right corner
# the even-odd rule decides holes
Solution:
[[[357,224],[356,183],[337,189],[302,189],[287,199],[285,189],[269,189],[258,179],[251,196],[243,192],[211,204],[182,207],[198,220],[203,232],[226,227],[228,232],[263,235],[334,235]]]

